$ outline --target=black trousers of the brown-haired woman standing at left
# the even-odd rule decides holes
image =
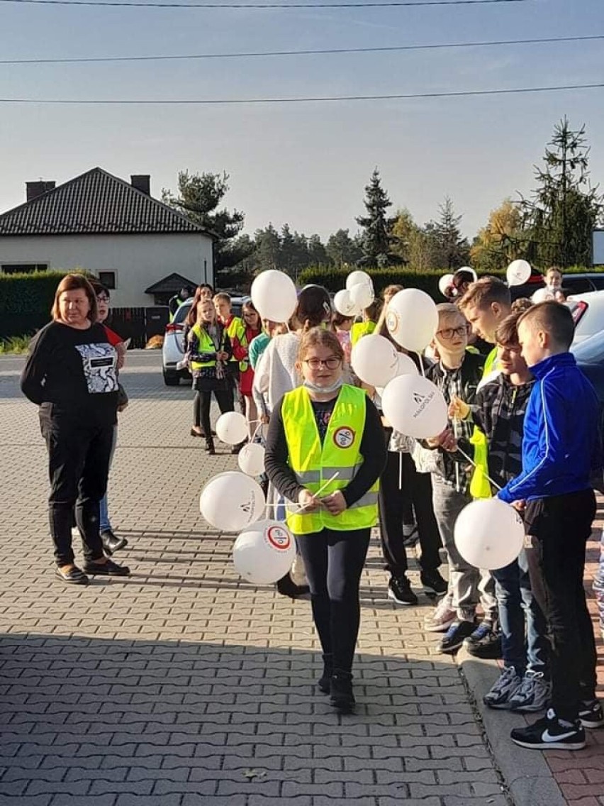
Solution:
[[[73,562],[74,511],[85,560],[101,559],[99,502],[107,489],[114,426],[85,425],[41,413],[40,428],[48,449],[48,516],[56,564]]]

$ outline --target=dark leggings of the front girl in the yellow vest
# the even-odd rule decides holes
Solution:
[[[361,605],[358,587],[369,548],[370,529],[324,529],[296,534],[310,587],[312,619],[333,668],[352,669]]]

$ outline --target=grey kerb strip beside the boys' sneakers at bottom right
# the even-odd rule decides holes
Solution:
[[[482,697],[499,675],[497,663],[472,658],[462,649],[457,654],[457,664],[465,675],[494,761],[503,774],[515,806],[566,806],[543,753],[523,750],[511,742],[510,731],[518,727],[519,717],[509,711],[494,711],[482,702]]]

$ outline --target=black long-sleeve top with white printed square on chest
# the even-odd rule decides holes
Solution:
[[[101,324],[87,330],[49,322],[31,340],[21,391],[50,417],[114,425],[117,353]]]

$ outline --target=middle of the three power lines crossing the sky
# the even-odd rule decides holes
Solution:
[[[340,53],[386,53],[399,51],[439,50],[445,48],[487,48],[494,45],[547,44],[552,42],[587,42],[604,39],[602,34],[591,36],[552,36],[547,39],[499,39],[488,42],[449,42],[424,45],[392,45],[384,48],[325,48],[321,50],[247,51],[242,53],[189,53],[176,56],[83,56],[66,59],[0,59],[0,64],[81,64],[110,61],[170,61],[193,59],[247,59],[255,56],[316,56]]]

